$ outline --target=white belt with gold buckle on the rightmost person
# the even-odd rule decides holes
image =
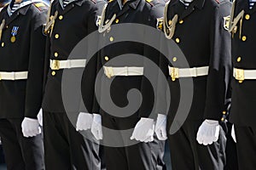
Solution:
[[[233,69],[233,77],[238,81],[244,81],[246,79],[256,79],[256,70],[243,70],[243,69]]]

